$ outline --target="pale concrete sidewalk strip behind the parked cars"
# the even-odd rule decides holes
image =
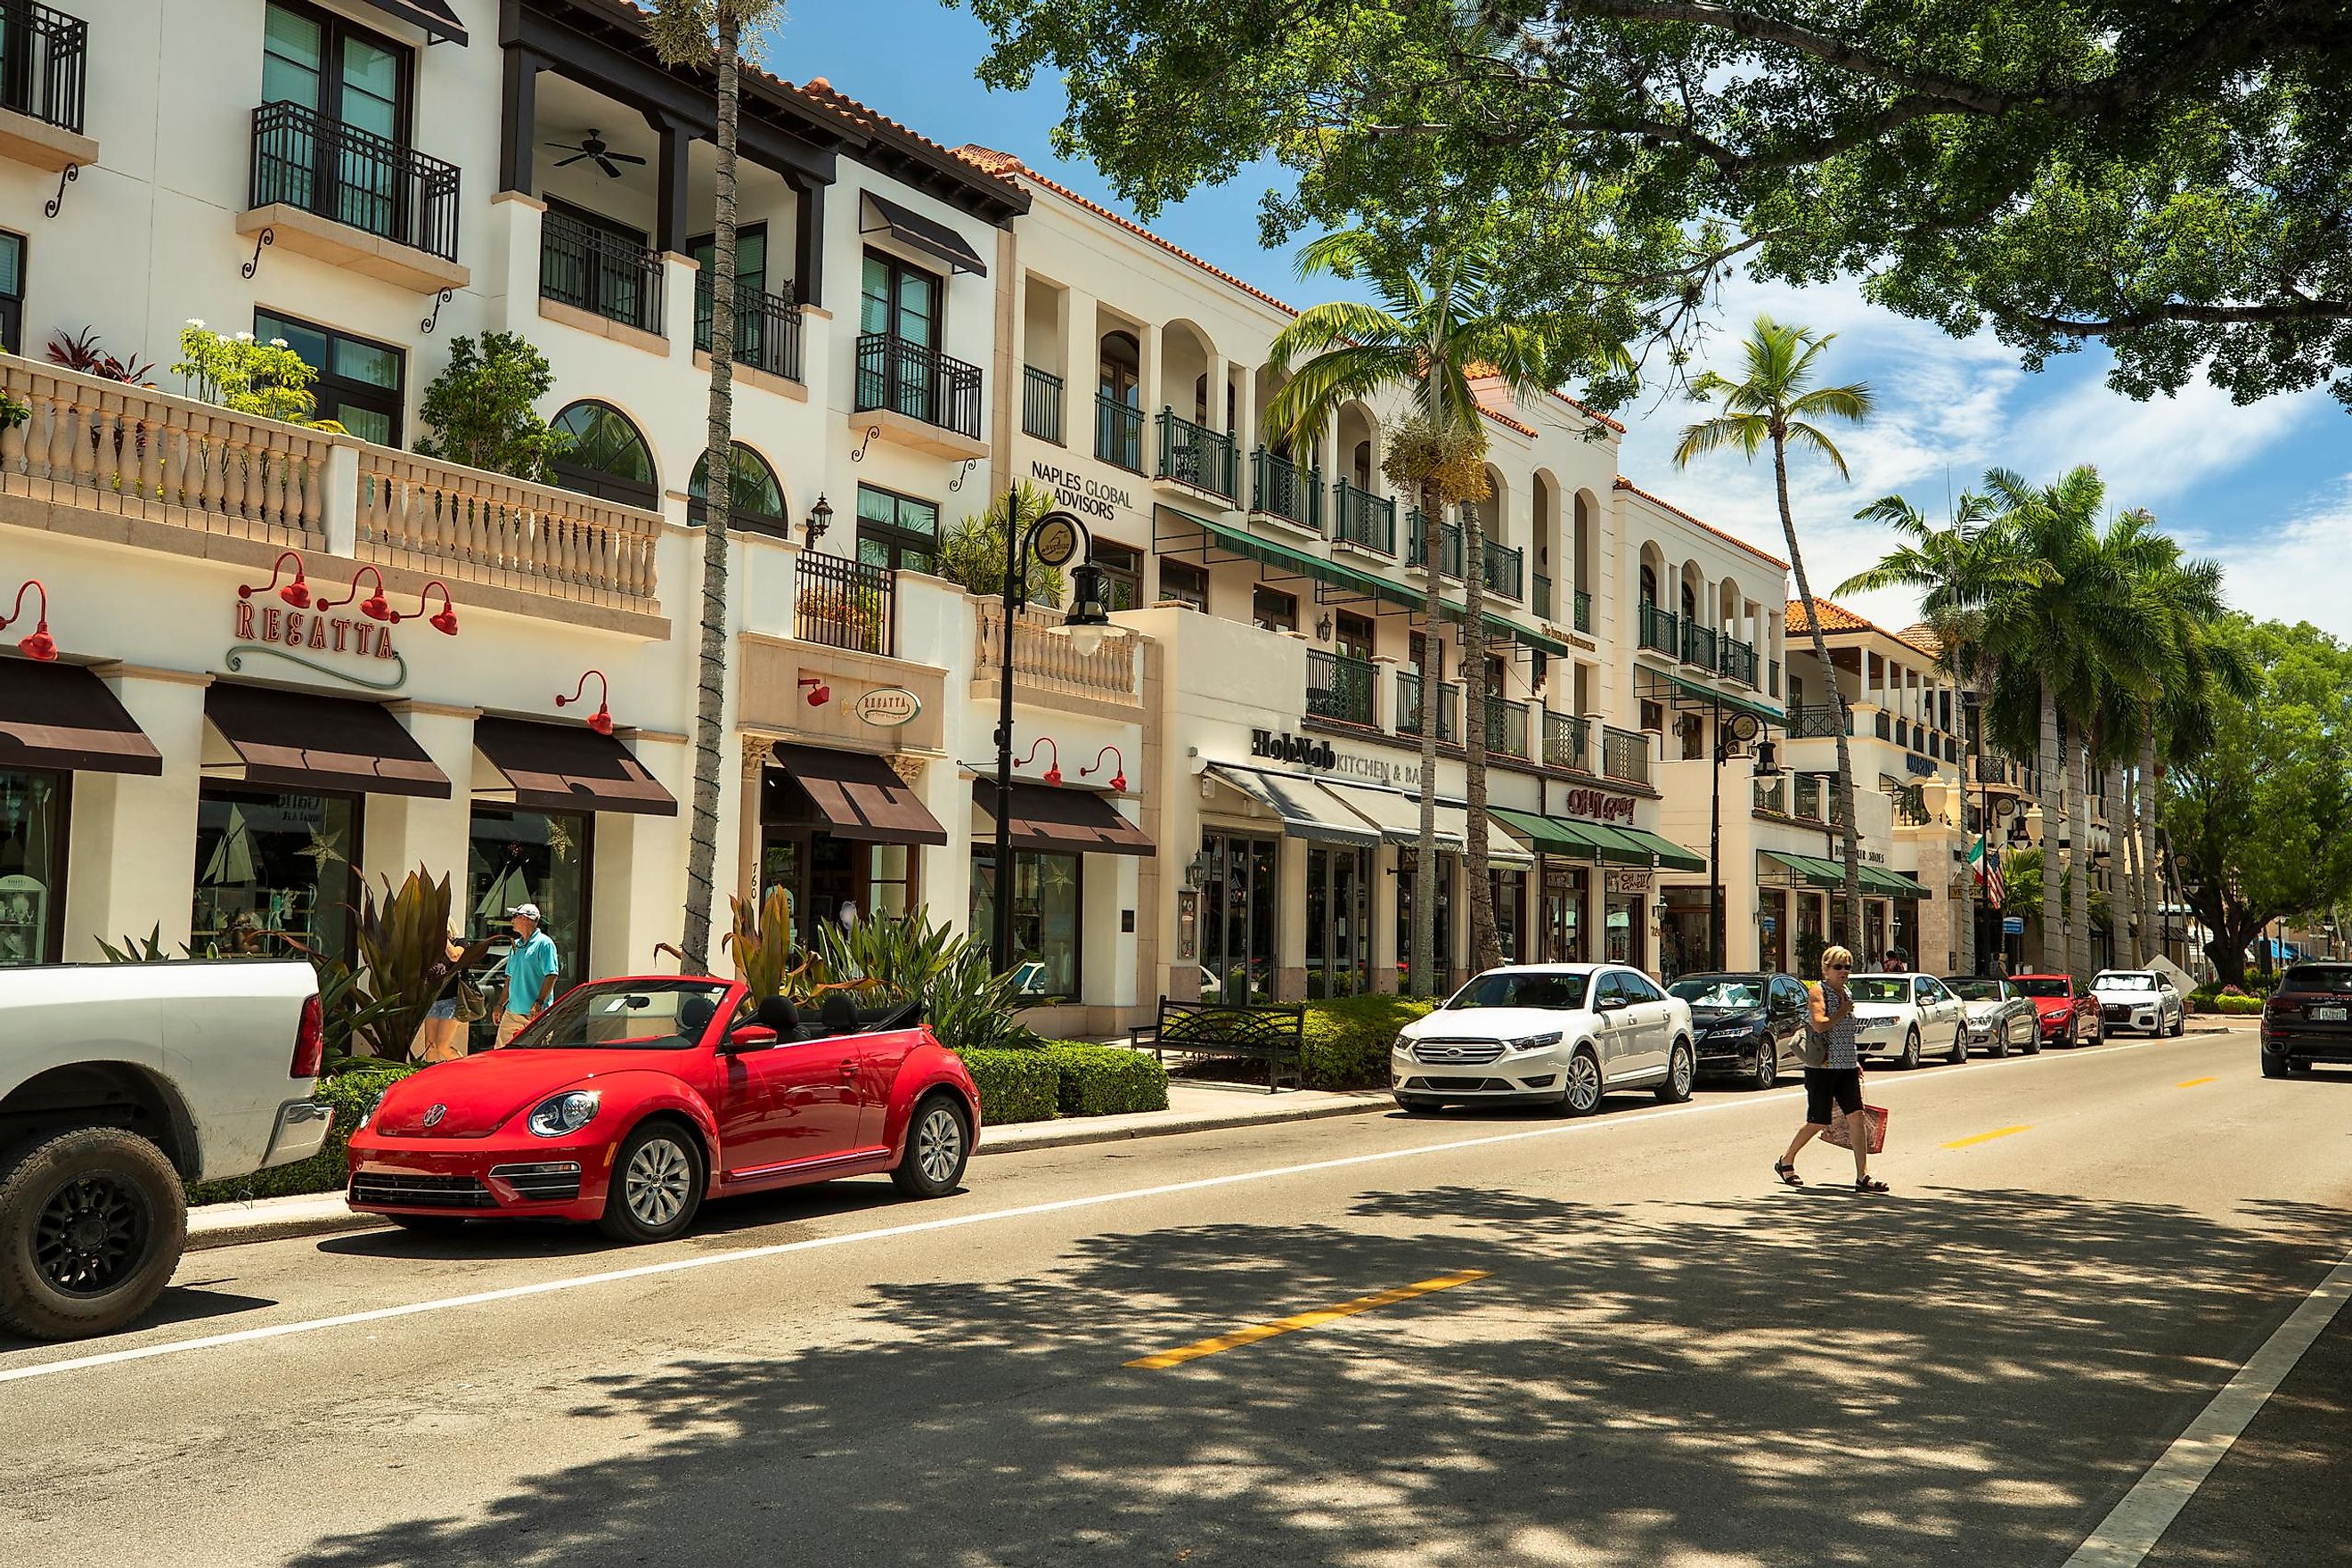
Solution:
[[[1023,1150],[1167,1138],[1171,1133],[1312,1121],[1317,1117],[1352,1117],[1392,1107],[1395,1100],[1388,1098],[1385,1088],[1265,1093],[1244,1084],[1169,1084],[1167,1110],[990,1126],[981,1128],[981,1147],[974,1154],[1018,1154]],[[282,1241],[289,1237],[325,1237],[341,1229],[374,1229],[379,1225],[388,1225],[388,1220],[353,1213],[343,1204],[341,1192],[303,1192],[285,1199],[254,1199],[252,1204],[205,1204],[188,1211],[188,1251],[242,1246],[247,1241]]]

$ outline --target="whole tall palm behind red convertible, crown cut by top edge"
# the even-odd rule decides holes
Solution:
[[[727,703],[727,527],[734,512],[734,329],[736,329],[736,129],[743,108],[746,33],[783,14],[783,0],[654,0],[649,33],[666,66],[717,73],[717,221],[710,237],[710,463],[703,508],[701,682],[694,705],[694,823],[687,832],[687,922],[682,969],[710,966],[710,903],[717,896],[720,748]],[[757,45],[753,45],[757,52]]]

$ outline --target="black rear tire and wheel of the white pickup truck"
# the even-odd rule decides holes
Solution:
[[[146,1138],[85,1126],[28,1145],[0,1175],[0,1328],[113,1333],[155,1305],[186,1241],[188,1194]]]

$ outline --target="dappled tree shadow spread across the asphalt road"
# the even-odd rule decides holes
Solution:
[[[619,1368],[546,1418],[614,1422],[616,1458],[296,1561],[2060,1563],[2347,1220],[1367,1190],[1345,1220],[1204,1220],[1014,1281],[875,1286],[816,1347],[783,1321],[769,1356]],[[1489,1276],[1124,1366],[1454,1269]]]

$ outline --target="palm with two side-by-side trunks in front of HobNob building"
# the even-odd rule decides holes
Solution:
[[[1437,628],[1444,616],[1437,541],[1446,503],[1486,496],[1484,409],[1472,369],[1501,376],[1512,397],[1550,390],[1548,339],[1510,310],[1489,256],[1479,249],[1402,254],[1364,230],[1315,240],[1298,259],[1305,275],[1362,277],[1378,303],[1310,306],[1275,334],[1265,357],[1289,371],[1265,404],[1265,437],[1308,449],[1355,400],[1402,395],[1411,414],[1390,433],[1383,473],[1418,496],[1428,604],[1421,637],[1421,844],[1414,860],[1414,954],[1409,990],[1432,994],[1437,966],[1437,705],[1444,668]],[[1294,364],[1296,362],[1296,364]],[[1501,964],[1494,893],[1486,884],[1486,628],[1484,559],[1463,571],[1463,738],[1468,743],[1470,943],[1479,969]]]

